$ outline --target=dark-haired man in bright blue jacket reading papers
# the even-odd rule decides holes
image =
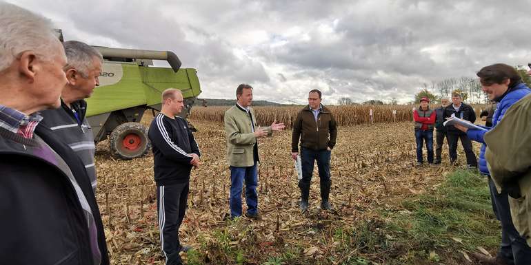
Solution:
[[[471,140],[483,143],[479,153],[479,171],[489,177],[492,209],[501,222],[501,246],[497,257],[488,257],[479,253],[474,253],[474,257],[483,264],[531,264],[531,248],[512,224],[508,193],[506,191],[497,193],[497,189],[490,178],[485,160],[486,145],[483,141],[483,135],[499,123],[505,111],[518,100],[530,94],[531,89],[522,83],[521,77],[512,66],[503,63],[485,66],[481,68],[477,76],[479,76],[483,92],[488,94],[490,100],[498,103],[492,117],[492,127],[468,129],[462,125],[454,126],[465,132]]]

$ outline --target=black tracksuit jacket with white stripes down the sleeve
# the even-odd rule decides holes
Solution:
[[[151,122],[148,136],[153,149],[157,186],[188,182],[192,171],[189,153],[201,156],[201,152],[186,120],[158,114]]]

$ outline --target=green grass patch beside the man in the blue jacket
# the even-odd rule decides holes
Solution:
[[[499,246],[488,182],[475,171],[454,171],[435,191],[401,205],[401,210],[381,210],[381,219],[371,220],[372,225],[356,224],[352,247],[384,253],[397,264],[437,264],[444,257],[456,262],[458,251]]]

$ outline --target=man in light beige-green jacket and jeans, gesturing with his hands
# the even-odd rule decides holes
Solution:
[[[248,218],[259,220],[258,213],[258,155],[257,138],[272,135],[272,131],[284,129],[283,123],[275,120],[270,127],[258,127],[252,103],[252,87],[241,84],[236,89],[236,105],[225,112],[227,134],[227,162],[230,166],[230,216],[241,216],[241,190],[246,182]]]

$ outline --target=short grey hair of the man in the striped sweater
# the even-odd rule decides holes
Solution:
[[[81,41],[65,41],[63,42],[63,47],[65,48],[68,61],[64,69],[74,68],[83,78],[88,77],[88,72],[92,69],[94,58],[99,59],[103,63],[101,53],[86,43],[82,43]]]

